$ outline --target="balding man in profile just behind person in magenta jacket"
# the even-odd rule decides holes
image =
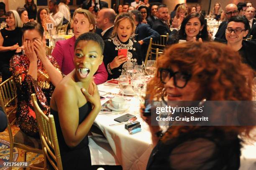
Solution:
[[[103,40],[110,38],[115,21],[115,11],[111,8],[104,8],[97,15],[97,28],[102,29],[100,36]]]

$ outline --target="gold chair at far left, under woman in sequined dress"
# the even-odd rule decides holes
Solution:
[[[14,103],[14,106],[10,106],[10,109],[7,109],[8,105],[11,105]],[[43,150],[41,149],[41,141],[37,140],[36,138],[29,137],[25,133],[23,133],[21,130],[19,130],[15,135],[12,133],[11,125],[15,123],[15,116],[12,121],[9,121],[10,116],[15,113],[17,108],[17,89],[13,80],[13,77],[5,80],[3,83],[0,84],[0,104],[3,108],[3,111],[5,112],[6,116],[8,117],[8,134],[10,138],[10,162],[13,161],[13,149],[14,147],[18,147],[22,150],[25,150],[24,152],[24,162],[26,162],[26,153],[27,152],[33,152],[37,154],[43,154]],[[42,167],[36,167],[33,165],[28,165],[28,167],[31,167],[33,169],[37,170],[44,170],[46,168]],[[45,166],[46,167],[46,166]],[[12,167],[9,167],[9,170],[11,170]]]

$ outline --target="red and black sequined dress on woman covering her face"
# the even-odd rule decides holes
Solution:
[[[47,56],[54,67],[60,71],[54,57]],[[54,86],[49,75],[44,69],[43,63],[37,59],[37,80],[28,75],[30,61],[26,55],[15,55],[10,60],[10,71],[13,74],[17,86],[18,107],[16,117],[20,129],[30,136],[38,136],[36,114],[33,111],[31,94],[35,93],[39,107],[45,114],[50,113],[50,99]]]

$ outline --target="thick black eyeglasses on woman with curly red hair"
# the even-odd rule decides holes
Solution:
[[[173,77],[174,86],[179,88],[184,88],[187,85],[189,79],[191,79],[191,74],[179,71],[174,72],[171,69],[160,68],[159,72],[160,80],[163,84],[166,84]]]

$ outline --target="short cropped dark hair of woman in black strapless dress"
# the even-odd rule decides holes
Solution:
[[[92,33],[92,32],[81,34],[76,39],[74,48],[77,47],[77,44],[79,43],[79,41],[90,41],[90,40],[95,41],[96,43],[98,43],[100,45],[100,49],[103,53],[103,51],[104,51],[104,41],[102,40],[102,38],[98,34]]]

